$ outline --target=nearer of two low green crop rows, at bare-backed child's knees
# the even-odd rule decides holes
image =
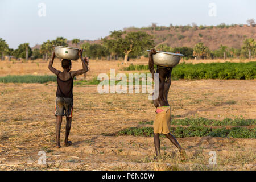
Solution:
[[[171,128],[171,133],[175,137],[233,137],[233,138],[256,138],[256,128],[246,129],[241,127],[233,127],[232,129],[212,129],[204,126],[189,126],[189,127],[176,127]],[[121,130],[117,135],[133,135],[133,136],[145,136],[152,137],[153,128],[152,127],[131,127],[129,129]],[[163,135],[161,135],[163,137]]]

